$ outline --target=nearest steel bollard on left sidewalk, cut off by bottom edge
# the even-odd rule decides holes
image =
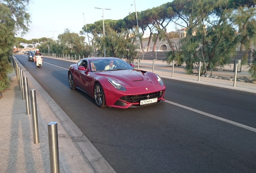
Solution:
[[[48,123],[49,153],[51,173],[60,172],[59,163],[59,146],[58,146],[58,129],[57,122]]]

